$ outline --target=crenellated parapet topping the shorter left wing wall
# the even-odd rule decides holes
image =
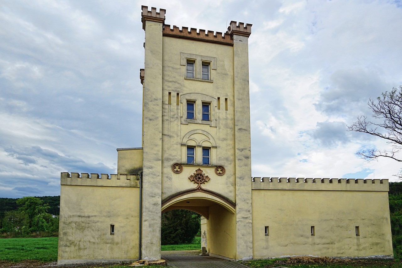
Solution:
[[[97,173],[60,173],[61,185],[78,186],[115,186],[115,187],[139,187],[136,175],[126,174],[97,174]]]

